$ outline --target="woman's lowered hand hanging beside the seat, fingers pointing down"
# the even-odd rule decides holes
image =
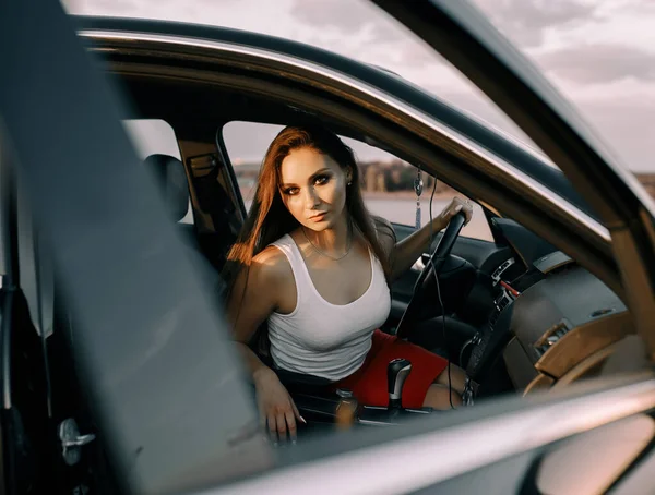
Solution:
[[[276,444],[278,438],[284,442],[287,433],[291,442],[296,442],[296,419],[305,424],[307,421],[298,412],[287,389],[270,367],[259,370],[253,378],[262,425],[269,425],[273,443]]]

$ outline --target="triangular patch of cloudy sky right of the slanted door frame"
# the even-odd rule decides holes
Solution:
[[[474,0],[655,195],[655,2]]]

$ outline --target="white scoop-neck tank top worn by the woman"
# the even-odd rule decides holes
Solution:
[[[286,234],[272,245],[289,261],[296,280],[296,307],[289,314],[269,316],[271,357],[296,373],[338,381],[357,371],[369,349],[373,330],[389,316],[391,294],[379,259],[369,250],[371,281],[349,304],[325,301],[309,276],[294,239]]]

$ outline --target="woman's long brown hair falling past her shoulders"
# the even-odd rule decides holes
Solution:
[[[299,224],[285,206],[281,194],[282,161],[293,149],[311,148],[330,156],[338,166],[352,171],[352,184],[346,189],[346,209],[353,226],[380,259],[389,279],[389,254],[378,240],[376,224],[361,197],[359,173],[353,150],[332,131],[322,125],[287,126],[273,140],[259,174],[254,201],[236,243],[227,254],[223,278],[227,295],[231,293],[238,275],[249,270],[252,258],[269,244],[298,228]],[[246,276],[248,279],[248,275]]]

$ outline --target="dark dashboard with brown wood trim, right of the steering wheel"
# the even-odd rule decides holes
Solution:
[[[472,339],[467,375],[484,384],[499,364],[523,394],[600,371],[634,334],[623,302],[561,251],[509,219],[493,227],[512,256],[491,271],[493,309]]]

